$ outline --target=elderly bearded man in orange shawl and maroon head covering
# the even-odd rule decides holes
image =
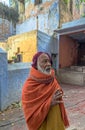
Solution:
[[[38,52],[22,89],[22,106],[28,130],[65,130],[69,126],[63,91],[48,53]]]

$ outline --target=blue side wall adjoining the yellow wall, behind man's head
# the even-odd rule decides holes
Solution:
[[[48,52],[50,56],[56,54],[55,59],[52,56],[53,68],[58,69],[59,65],[59,49],[58,38],[51,37],[41,31],[37,34],[37,49],[38,51]]]

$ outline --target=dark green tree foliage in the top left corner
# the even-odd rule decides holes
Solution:
[[[14,24],[18,22],[19,14],[14,8],[9,8],[0,2],[0,17],[12,21]]]

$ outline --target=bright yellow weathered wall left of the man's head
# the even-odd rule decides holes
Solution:
[[[18,53],[22,55],[23,62],[31,62],[32,56],[37,51],[37,31],[23,33],[8,38],[8,59],[12,59]]]

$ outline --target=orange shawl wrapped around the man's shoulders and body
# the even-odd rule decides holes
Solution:
[[[56,89],[61,88],[53,72],[51,75],[46,75],[31,68],[29,78],[22,89],[22,106],[29,130],[37,130],[44,121]],[[60,104],[60,110],[64,124],[68,126],[69,122],[63,103]]]

